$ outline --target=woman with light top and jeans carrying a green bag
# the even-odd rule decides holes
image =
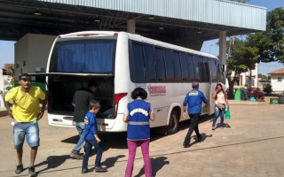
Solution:
[[[213,119],[212,130],[215,130],[215,124],[219,116],[221,118],[220,127],[224,128],[225,107],[227,106],[227,108],[229,108],[227,95],[220,83],[218,83],[216,86],[216,90],[213,94],[213,99],[215,99],[215,116]]]

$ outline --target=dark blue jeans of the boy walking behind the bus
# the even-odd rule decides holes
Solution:
[[[100,166],[101,156],[103,154],[103,149],[101,148],[100,144],[97,142],[97,140],[85,140],[85,155],[83,156],[83,165],[82,170],[88,169],[88,161],[91,154],[91,147],[95,147],[97,150],[97,157],[95,161],[95,166]]]

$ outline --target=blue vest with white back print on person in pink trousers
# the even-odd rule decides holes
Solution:
[[[129,111],[127,139],[147,140],[150,139],[150,113],[151,107],[144,100],[134,100],[127,105]]]

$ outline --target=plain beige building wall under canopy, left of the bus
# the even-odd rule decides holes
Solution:
[[[46,68],[55,35],[24,35],[15,43],[15,80],[20,73],[36,73],[36,67]]]

